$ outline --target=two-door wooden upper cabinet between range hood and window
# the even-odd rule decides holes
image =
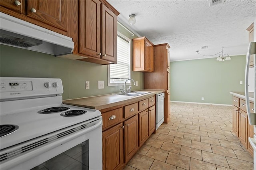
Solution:
[[[82,61],[98,64],[117,63],[117,16],[108,2],[79,1],[78,55]],[[87,57],[87,58],[86,58]]]

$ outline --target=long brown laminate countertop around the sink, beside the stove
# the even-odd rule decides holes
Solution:
[[[153,97],[158,93],[164,92],[164,90],[138,90],[138,91],[150,92],[150,93],[146,93],[144,95],[138,95],[138,96],[125,96],[125,95],[118,95],[119,93],[114,93],[109,95],[100,95],[100,96],[92,96],[92,97],[83,97],[78,99],[63,100],[63,104],[102,110],[102,109],[107,109],[109,107],[130,103],[133,101],[137,102],[140,100],[144,100],[149,97]]]

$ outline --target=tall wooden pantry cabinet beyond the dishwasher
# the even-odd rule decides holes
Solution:
[[[170,45],[154,45],[154,72],[144,73],[144,89],[164,90],[164,123],[170,118]]]

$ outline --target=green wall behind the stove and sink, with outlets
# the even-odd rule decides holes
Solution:
[[[118,31],[127,35],[125,30]],[[54,55],[0,45],[1,77],[60,78],[64,87],[63,99],[120,92],[122,86],[108,87],[107,71],[107,65],[63,59]],[[134,81],[138,81],[138,87],[132,84],[132,90],[144,89],[143,73],[132,71],[131,77]],[[104,89],[98,89],[98,80],[104,80]],[[90,81],[90,89],[85,89],[85,81]]]

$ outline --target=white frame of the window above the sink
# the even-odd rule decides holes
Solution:
[[[129,74],[129,79],[131,79],[132,77],[132,40],[126,36],[124,36],[124,34],[120,33],[120,32],[117,32],[117,36],[119,36],[120,38],[123,38],[124,40],[128,41],[129,42],[129,46],[130,46],[130,66],[129,66],[129,69],[130,69],[130,74]],[[123,86],[124,85],[124,82],[123,83],[110,83],[110,66],[111,64],[108,65],[108,86]],[[131,85],[131,81],[127,81],[126,82],[126,85]]]

